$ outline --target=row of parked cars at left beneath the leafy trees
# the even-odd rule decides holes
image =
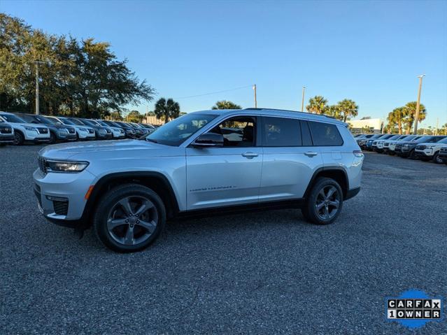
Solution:
[[[0,111],[0,145],[141,138],[151,124]]]

